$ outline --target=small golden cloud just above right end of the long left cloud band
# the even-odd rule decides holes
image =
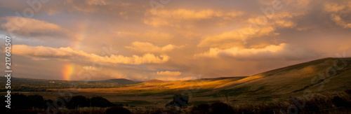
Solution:
[[[152,43],[138,42],[138,41],[133,42],[131,46],[126,46],[126,48],[128,49],[135,50],[138,52],[168,52],[176,48],[183,48],[183,47],[184,46],[176,46],[171,44],[168,44],[164,47],[159,47],[157,45],[153,45]]]

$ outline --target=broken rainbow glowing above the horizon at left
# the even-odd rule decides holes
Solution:
[[[72,42],[72,50],[81,50],[81,42],[84,41],[84,38],[87,36],[86,29],[88,28],[88,20],[82,21],[78,26],[80,31],[77,32],[77,41]],[[62,78],[63,80],[72,80],[72,76],[74,76],[74,70],[76,69],[76,65],[74,62],[64,64],[62,68]]]

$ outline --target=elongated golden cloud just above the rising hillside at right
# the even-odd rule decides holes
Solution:
[[[208,52],[203,52],[194,55],[194,58],[199,57],[233,57],[240,60],[263,60],[263,59],[306,59],[317,57],[317,53],[296,48],[286,43],[279,45],[267,45],[265,48],[227,48],[221,50],[219,48],[210,48]]]

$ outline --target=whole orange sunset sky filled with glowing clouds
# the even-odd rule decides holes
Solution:
[[[351,1],[0,1],[5,36],[16,78],[252,76],[351,57]]]

